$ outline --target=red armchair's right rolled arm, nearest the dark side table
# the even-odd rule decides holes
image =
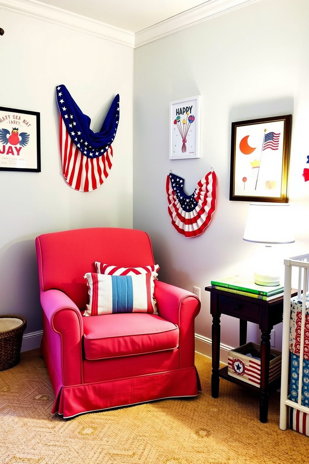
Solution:
[[[188,290],[155,281],[154,297],[159,316],[179,327],[180,367],[194,366],[194,320],[201,309],[199,298]]]

